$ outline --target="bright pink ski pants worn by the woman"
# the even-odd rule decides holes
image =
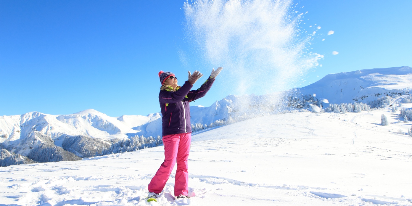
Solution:
[[[187,158],[189,157],[191,133],[171,134],[163,137],[164,162],[149,183],[149,192],[160,193],[169,179],[170,173],[178,163],[175,177],[175,196],[187,195]]]

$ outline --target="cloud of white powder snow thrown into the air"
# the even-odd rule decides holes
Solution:
[[[322,57],[309,51],[321,27],[304,26],[303,8],[291,0],[195,0],[183,9],[191,53],[201,64],[224,68],[218,78],[227,94],[299,86]]]

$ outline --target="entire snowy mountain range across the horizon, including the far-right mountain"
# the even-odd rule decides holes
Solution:
[[[296,104],[288,103],[290,95],[297,99],[302,99],[302,96],[305,95],[307,97],[316,96],[311,97],[310,101],[317,101],[318,104],[326,106],[327,104],[325,105],[321,100],[327,99],[329,103],[368,103],[368,101],[376,100],[385,95],[410,94],[411,88],[412,68],[408,66],[329,74],[306,87],[278,94],[229,95],[209,107],[191,106],[191,123],[211,124],[216,120],[229,119],[241,121],[255,116],[272,115],[282,110],[294,109],[291,107],[296,107]],[[296,108],[304,107],[308,107],[307,103],[303,107],[300,104],[300,107]],[[23,115],[0,116],[0,148],[27,156],[31,150],[37,148],[36,144],[48,145],[47,148],[56,146],[54,150],[60,151],[59,148],[62,147],[67,138],[75,138],[71,143],[81,144],[83,142],[82,144],[84,144],[84,142],[88,142],[106,148],[110,141],[113,142],[116,139],[124,140],[142,135],[145,137],[161,136],[161,117],[160,112],[147,116],[109,117],[93,109],[71,115],[28,112]],[[53,142],[54,145],[50,146],[50,143]],[[78,145],[69,146],[70,148],[79,147]],[[101,152],[102,150],[96,149],[96,151]],[[75,151],[76,154],[81,153],[79,152]],[[60,153],[64,156],[62,159],[75,159],[72,154],[66,154],[65,151],[60,151]],[[2,154],[5,154],[5,157],[10,157],[7,152]]]

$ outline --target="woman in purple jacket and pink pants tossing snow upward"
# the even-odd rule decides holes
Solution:
[[[189,72],[189,80],[178,86],[177,77],[170,72],[159,72],[160,87],[159,102],[162,109],[162,136],[164,145],[164,162],[157,170],[148,186],[148,198],[157,198],[169,179],[170,173],[177,162],[175,180],[175,196],[189,198],[187,194],[187,158],[189,157],[192,128],[190,126],[189,102],[205,96],[212,87],[215,77],[223,68],[213,69],[210,77],[197,90],[192,90],[193,84],[203,75]]]

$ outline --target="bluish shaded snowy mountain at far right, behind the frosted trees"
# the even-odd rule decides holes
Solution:
[[[368,103],[387,94],[409,94],[412,68],[402,66],[328,74],[298,90],[302,94],[316,94],[318,99],[328,99],[329,103]]]

